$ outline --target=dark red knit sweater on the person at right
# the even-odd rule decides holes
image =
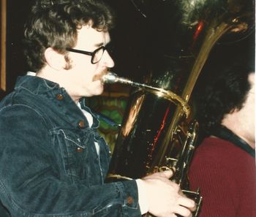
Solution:
[[[256,167],[249,153],[208,137],[196,149],[189,168],[192,190],[200,187],[200,217],[255,217]]]

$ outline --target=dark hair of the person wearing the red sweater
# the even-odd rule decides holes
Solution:
[[[248,76],[255,69],[244,62],[211,66],[204,77],[203,88],[195,97],[196,118],[202,134],[209,135],[217,129],[224,116],[240,110],[250,89]]]

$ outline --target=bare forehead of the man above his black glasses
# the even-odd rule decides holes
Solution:
[[[97,31],[97,29],[86,25],[78,29],[78,42],[75,47],[95,47],[101,43],[105,45],[108,42],[110,42],[108,31]]]

